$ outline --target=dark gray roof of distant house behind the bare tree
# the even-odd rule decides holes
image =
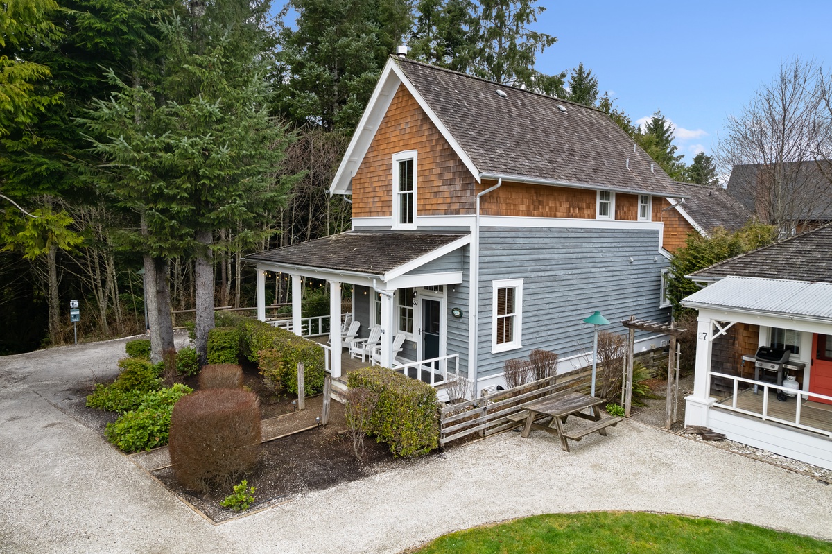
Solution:
[[[764,164],[736,165],[731,169],[726,185],[728,194],[739,200],[752,214],[765,221],[766,183],[771,181],[774,169]],[[788,202],[804,208],[795,214],[798,220],[832,220],[832,161],[789,161],[781,163],[779,171],[785,181]]]

